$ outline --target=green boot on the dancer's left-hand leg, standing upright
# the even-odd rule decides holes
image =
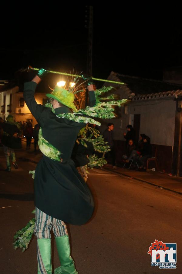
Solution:
[[[38,274],[52,274],[51,239],[37,239]]]

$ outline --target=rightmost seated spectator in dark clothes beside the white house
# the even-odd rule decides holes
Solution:
[[[146,170],[146,160],[150,157],[152,157],[152,146],[150,144],[149,136],[145,136],[143,138],[143,149],[141,149],[141,155],[136,160],[139,165],[138,170]]]

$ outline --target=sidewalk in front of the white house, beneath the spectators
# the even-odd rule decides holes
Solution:
[[[107,170],[114,174],[126,176],[129,179],[135,179],[142,181],[147,184],[152,184],[159,188],[167,189],[182,195],[182,177],[169,176],[167,174],[162,174],[159,171],[149,170],[145,171],[135,171],[123,167],[117,167],[113,169],[112,165],[107,164],[101,167],[102,170]]]

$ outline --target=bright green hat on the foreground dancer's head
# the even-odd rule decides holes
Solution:
[[[74,94],[63,89],[62,87],[56,86],[52,93],[47,93],[46,96],[57,100],[66,107],[72,108],[74,111],[77,111],[75,104],[73,103],[75,100]]]

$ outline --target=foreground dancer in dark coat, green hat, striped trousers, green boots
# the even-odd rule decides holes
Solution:
[[[94,202],[88,185],[78,173],[71,159],[72,149],[85,122],[63,118],[60,114],[71,114],[75,110],[74,95],[56,86],[50,98],[51,107],[37,104],[34,92],[37,84],[47,72],[39,70],[31,82],[25,83],[24,99],[29,110],[41,126],[39,130],[43,146],[43,157],[35,170],[35,230],[37,237],[38,273],[52,273],[51,234],[53,228],[61,266],[54,270],[58,273],[77,274],[74,261],[70,256],[70,245],[66,223],[82,225],[93,214]],[[84,79],[85,80],[85,79]],[[89,102],[95,104],[93,83],[89,78]],[[42,135],[41,135],[42,134]],[[59,151],[59,160],[54,159],[48,148]]]

